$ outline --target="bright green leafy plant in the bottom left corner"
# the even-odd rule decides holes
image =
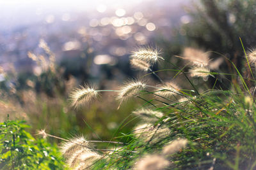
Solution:
[[[0,169],[65,169],[56,145],[35,139],[24,121],[0,123]]]

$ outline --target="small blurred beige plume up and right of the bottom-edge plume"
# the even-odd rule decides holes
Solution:
[[[164,146],[163,154],[170,155],[170,154],[179,152],[182,148],[185,148],[187,143],[188,143],[188,139],[176,139],[172,141],[170,144]]]

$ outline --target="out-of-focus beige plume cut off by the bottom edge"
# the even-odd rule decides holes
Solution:
[[[161,155],[145,155],[134,165],[134,170],[161,170],[170,165],[170,162]]]

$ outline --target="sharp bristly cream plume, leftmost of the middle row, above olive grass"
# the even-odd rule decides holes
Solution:
[[[84,104],[90,103],[93,99],[97,99],[99,93],[93,87],[88,85],[81,86],[80,88],[74,89],[70,94],[71,105],[74,108],[79,108]]]

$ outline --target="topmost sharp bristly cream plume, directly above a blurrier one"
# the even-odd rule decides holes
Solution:
[[[139,48],[138,51],[132,52],[131,59],[139,59],[149,62],[151,64],[156,63],[163,57],[159,56],[159,51],[153,48]]]

